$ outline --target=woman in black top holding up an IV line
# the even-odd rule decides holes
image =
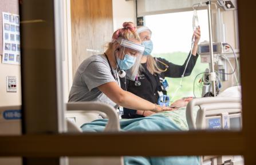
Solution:
[[[163,80],[166,77],[170,78],[181,78],[186,67],[188,57],[182,66],[175,65],[174,63],[168,62],[163,58],[153,58],[150,54],[153,49],[153,44],[151,41],[151,30],[148,27],[140,27],[137,29],[137,33],[140,35],[142,45],[145,46],[145,51],[143,57],[141,58],[141,65],[139,69],[138,76],[135,81],[128,80],[125,82],[127,91],[140,96],[141,98],[148,100],[152,103],[157,103],[159,99],[159,93],[167,94],[164,90]],[[193,34],[194,46],[191,50],[191,58],[189,59],[187,69],[184,73],[184,77],[191,74],[194,69],[196,60],[198,59],[198,54],[196,53],[198,49],[198,42],[200,39],[200,27],[198,27]],[[124,81],[123,79],[121,81]],[[124,84],[124,83],[123,83]],[[144,116],[149,116],[154,114],[152,111],[137,111],[124,108],[124,115],[122,118],[142,118]]]

